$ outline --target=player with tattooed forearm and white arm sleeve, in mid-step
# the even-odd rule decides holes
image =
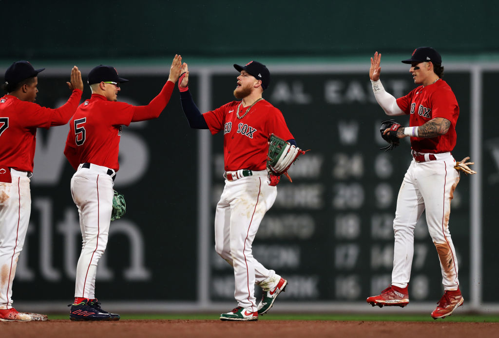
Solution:
[[[387,93],[381,84],[380,61],[381,54],[375,52],[369,76],[376,100],[387,115],[410,116],[409,127],[397,125],[384,133],[394,133],[398,138],[410,137],[413,161],[400,187],[393,221],[392,285],[380,295],[369,297],[367,303],[379,307],[409,304],[414,228],[426,210],[426,222],[437,248],[445,289],[431,316],[444,318],[463,304],[456,250],[449,232],[451,200],[460,178],[451,154],[456,145],[459,106],[451,87],[442,79],[442,58],[435,49],[416,48],[409,59],[402,61],[411,65],[409,72],[419,86],[398,99]]]

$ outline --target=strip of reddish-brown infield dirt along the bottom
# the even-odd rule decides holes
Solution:
[[[68,320],[0,323],[1,337],[42,338],[156,338],[156,337],[499,337],[499,323],[453,322],[355,322],[219,320],[123,320],[119,322],[70,322]]]

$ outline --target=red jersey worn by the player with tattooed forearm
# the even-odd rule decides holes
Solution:
[[[419,127],[436,117],[451,121],[449,131],[432,138],[411,137],[411,146],[421,153],[445,153],[456,146],[456,123],[459,106],[451,87],[444,80],[428,86],[419,86],[406,96],[399,97],[397,104],[410,114],[409,126]]]

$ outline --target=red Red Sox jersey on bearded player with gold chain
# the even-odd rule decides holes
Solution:
[[[266,100],[256,102],[250,112],[236,116],[241,101],[232,101],[203,114],[212,134],[224,130],[224,163],[226,171],[265,170],[268,137],[275,134],[284,140],[293,138],[279,109]],[[240,107],[243,116],[248,107]]]

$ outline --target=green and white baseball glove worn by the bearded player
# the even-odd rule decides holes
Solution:
[[[270,185],[277,185],[280,175],[286,176],[289,182],[292,182],[287,170],[298,156],[304,153],[305,151],[300,148],[290,145],[274,134],[270,134],[267,155],[267,171],[270,175]]]

